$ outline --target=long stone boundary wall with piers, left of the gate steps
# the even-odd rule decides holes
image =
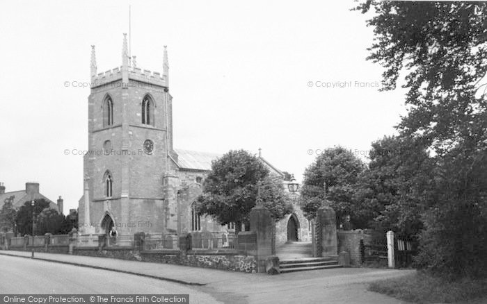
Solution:
[[[193,249],[191,248],[193,243],[193,237],[191,235],[179,236],[178,249],[161,248],[158,250],[145,250],[145,246],[143,246],[145,235],[138,233],[133,237],[133,246],[123,246],[122,244],[119,246],[106,246],[106,236],[104,235],[97,236],[98,246],[77,246],[77,237],[66,238],[67,235],[63,236],[67,244],[51,244],[50,240],[56,237],[58,236],[45,235],[38,237],[38,242],[34,242],[34,251],[39,253],[72,253],[72,255],[109,257],[140,262],[159,262],[246,273],[255,273],[258,271],[257,260],[259,259],[257,258],[258,246],[257,233],[255,231],[239,233],[237,239],[233,239],[233,242],[237,243],[234,244],[237,245],[237,248]],[[32,251],[31,242],[26,241],[27,236],[18,239],[19,242],[14,242],[15,245],[9,246],[9,249]],[[178,242],[178,239],[175,239],[175,242]],[[6,249],[4,246],[2,248]]]

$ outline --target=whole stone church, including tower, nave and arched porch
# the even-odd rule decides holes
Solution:
[[[209,217],[199,217],[193,208],[211,161],[221,155],[173,147],[173,96],[169,93],[166,47],[162,74],[141,69],[135,56],[129,57],[124,34],[122,66],[97,73],[92,46],[90,71],[90,153],[83,158],[80,232],[106,233],[111,226],[120,235],[233,230],[232,225],[221,226]],[[278,169],[260,159],[282,180]],[[289,195],[296,196],[297,202],[297,194]],[[277,225],[276,244],[309,239],[308,220],[297,203],[294,205],[294,213]]]

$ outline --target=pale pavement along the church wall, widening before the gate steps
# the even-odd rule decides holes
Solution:
[[[31,255],[29,252],[22,251],[0,251],[1,254],[14,254],[24,257]],[[373,280],[394,278],[412,272],[389,269],[341,268],[269,276],[263,273],[237,273],[171,264],[115,260],[105,257],[84,257],[55,253],[35,253],[35,257],[59,262],[84,264],[89,267],[113,268],[185,283],[198,283],[203,286],[188,286],[194,289],[195,292],[202,292],[216,299],[215,303],[221,301],[223,303],[237,304],[405,303],[388,296],[367,292],[367,284]],[[22,258],[22,260],[27,259]],[[94,271],[95,269],[90,270]],[[121,274],[111,272],[109,276]],[[123,274],[125,275],[126,273]],[[105,293],[111,292],[113,291],[106,290]]]

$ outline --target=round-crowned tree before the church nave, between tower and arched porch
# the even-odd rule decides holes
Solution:
[[[230,151],[211,163],[211,172],[196,205],[198,212],[214,217],[222,225],[235,222],[238,229],[249,220],[259,180],[262,203],[276,221],[292,212],[282,183],[257,157],[244,150]]]

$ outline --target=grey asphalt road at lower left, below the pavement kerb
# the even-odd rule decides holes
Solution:
[[[222,303],[197,287],[6,255],[0,255],[0,294],[189,294],[190,303]]]

